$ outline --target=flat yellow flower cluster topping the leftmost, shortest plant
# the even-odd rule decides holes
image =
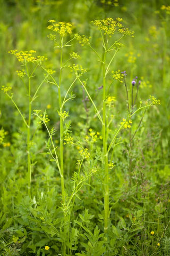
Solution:
[[[34,57],[32,54],[36,53],[34,50],[30,51],[18,51],[18,50],[11,50],[8,53],[11,53],[15,55],[15,57],[18,59],[20,62],[41,62],[44,60],[47,60],[45,56],[37,56]]]

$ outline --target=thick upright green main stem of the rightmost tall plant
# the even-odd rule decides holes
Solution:
[[[103,126],[102,126],[102,135],[103,135],[103,152],[104,152],[104,166],[105,166],[105,181],[104,181],[104,231],[107,232],[108,229],[108,214],[109,214],[109,186],[108,186],[108,154],[107,154],[107,138],[106,138],[106,70],[105,70],[105,61],[106,61],[106,50],[103,57]]]

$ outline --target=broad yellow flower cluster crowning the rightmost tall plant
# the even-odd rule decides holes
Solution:
[[[100,30],[103,30],[104,35],[108,35],[109,37],[111,37],[111,35],[113,35],[115,31],[118,31],[118,33],[124,35],[133,35],[134,31],[131,31],[128,28],[124,28],[121,23],[122,21],[122,18],[116,18],[116,20],[114,20],[113,18],[107,18],[105,20],[94,20],[92,22]]]

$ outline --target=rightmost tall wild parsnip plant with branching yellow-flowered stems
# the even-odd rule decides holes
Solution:
[[[147,104],[146,106],[140,106],[138,109],[136,109],[133,112],[133,107],[135,104],[135,100],[137,99],[137,94],[138,94],[138,90],[139,90],[139,85],[138,85],[138,89],[137,89],[137,94],[135,97],[135,100],[133,102],[133,86],[135,81],[133,80],[132,82],[132,111],[129,109],[129,98],[128,98],[128,90],[127,90],[127,86],[125,83],[125,87],[126,87],[126,95],[127,95],[127,103],[128,103],[128,116],[125,118],[123,118],[123,122],[121,123],[120,127],[115,131],[115,135],[112,138],[109,134],[109,120],[108,120],[108,113],[107,113],[107,102],[108,101],[112,101],[113,96],[111,96],[109,94],[109,87],[111,86],[110,84],[107,83],[107,76],[109,74],[109,70],[111,68],[112,62],[114,61],[114,58],[116,56],[116,53],[120,50],[120,48],[122,46],[124,46],[122,43],[120,43],[121,39],[127,35],[131,35],[133,36],[134,32],[129,30],[128,28],[124,28],[124,26],[122,25],[123,19],[121,18],[117,18],[116,20],[113,20],[112,18],[107,18],[105,20],[95,20],[92,21],[92,23],[94,23],[95,26],[97,26],[97,28],[100,31],[100,36],[101,36],[101,42],[102,42],[102,46],[103,46],[103,52],[100,54],[98,53],[94,47],[91,46],[89,39],[86,38],[85,36],[81,37],[80,35],[76,34],[76,37],[79,41],[79,43],[81,43],[82,45],[87,44],[90,49],[92,51],[94,51],[97,55],[97,57],[99,58],[99,61],[102,63],[102,69],[103,69],[103,85],[102,86],[102,90],[103,90],[103,97],[102,97],[102,101],[103,101],[103,106],[102,106],[102,111],[103,111],[103,115],[101,116],[99,113],[99,110],[97,108],[97,106],[95,105],[95,102],[92,100],[92,98],[90,97],[90,94],[88,92],[87,86],[86,84],[83,83],[83,81],[81,80],[80,77],[78,77],[81,85],[83,86],[84,90],[86,91],[90,101],[92,102],[92,105],[94,106],[97,116],[99,118],[99,121],[101,122],[102,125],[102,137],[103,137],[103,159],[104,159],[104,166],[102,167],[105,171],[104,171],[104,212],[105,212],[105,222],[104,222],[104,230],[105,233],[107,233],[107,229],[108,229],[108,219],[109,219],[109,151],[112,149],[112,147],[114,146],[115,140],[117,138],[117,135],[120,133],[120,131],[122,129],[126,129],[126,128],[130,128],[131,127],[131,117],[137,113],[139,110],[143,109],[143,108],[147,108],[149,106],[152,106],[154,101],[152,101],[150,104]],[[117,34],[119,35],[119,37],[116,39],[116,41],[113,43],[113,41],[111,41],[111,38],[113,37],[113,35]],[[110,42],[111,41],[111,42]],[[114,71],[112,70],[112,76],[113,79],[120,81],[120,83],[123,82],[123,78],[125,81],[125,76],[126,76],[126,72],[122,71],[122,73],[120,73],[120,70],[118,71]],[[75,73],[75,75],[77,75],[77,73]],[[113,133],[113,131],[112,131]],[[108,138],[111,138],[111,141],[108,141]],[[130,174],[131,175],[131,174]]]

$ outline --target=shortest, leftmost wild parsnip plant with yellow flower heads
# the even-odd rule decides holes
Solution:
[[[35,75],[35,71],[38,65],[41,64],[42,61],[46,60],[44,56],[35,56],[36,51],[18,51],[18,50],[11,50],[9,53],[13,54],[19,62],[21,62],[22,70],[16,70],[17,75],[22,79],[23,85],[25,86],[26,94],[28,95],[28,117],[22,113],[20,108],[18,107],[18,103],[13,99],[13,93],[11,93],[11,86],[2,86],[2,91],[7,95],[8,98],[13,102],[15,108],[18,110],[20,116],[22,117],[22,121],[27,127],[27,166],[28,166],[28,173],[27,173],[27,186],[28,186],[28,193],[31,195],[31,114],[32,114],[32,102],[37,98],[37,93],[40,87],[46,81],[48,74],[45,76],[43,81],[38,85],[36,90],[32,93],[31,88],[31,79]],[[29,63],[33,63],[33,68],[29,69]],[[25,81],[24,77],[27,77],[27,81]]]

